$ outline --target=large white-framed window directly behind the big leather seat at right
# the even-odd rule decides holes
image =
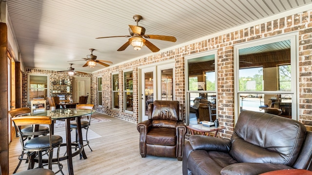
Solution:
[[[296,119],[296,37],[285,34],[234,47],[235,116],[242,110],[265,112],[268,106]]]

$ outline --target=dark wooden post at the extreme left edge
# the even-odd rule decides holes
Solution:
[[[8,136],[8,40],[6,23],[0,22],[0,165],[2,175],[9,174]]]

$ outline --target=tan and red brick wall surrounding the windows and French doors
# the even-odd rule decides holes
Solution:
[[[242,28],[240,30],[223,34],[217,37],[205,39],[189,45],[185,45],[166,52],[156,53],[153,56],[139,58],[129,61],[123,65],[110,66],[108,69],[93,73],[91,78],[91,103],[95,104],[98,112],[118,117],[130,122],[138,122],[138,67],[157,63],[168,59],[175,60],[175,93],[176,99],[185,104],[185,67],[184,57],[195,53],[217,49],[217,96],[218,96],[218,115],[220,125],[225,126],[221,137],[230,138],[234,130],[234,44],[248,42],[257,39],[268,38],[289,32],[299,33],[299,50],[297,58],[299,61],[298,69],[298,102],[299,102],[299,121],[304,123],[309,130],[312,130],[312,11],[305,11],[293,14],[284,18],[274,19],[264,23]],[[133,69],[133,113],[123,112],[123,96],[119,96],[119,109],[112,109],[112,73],[118,72],[119,82],[122,81],[123,70]],[[38,73],[39,70],[31,70],[27,73]],[[54,74],[55,72],[45,72],[44,74]],[[102,78],[102,101],[103,105],[97,105],[97,78]],[[27,84],[26,75],[23,75],[23,97],[24,85]],[[120,93],[123,84],[119,83]],[[23,104],[25,103],[23,98]],[[293,105],[296,106],[296,105]]]

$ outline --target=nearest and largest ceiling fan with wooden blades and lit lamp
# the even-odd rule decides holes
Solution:
[[[131,37],[129,41],[124,43],[117,51],[125,50],[130,44],[134,47],[135,50],[141,50],[141,48],[146,45],[152,52],[158,52],[160,49],[152,44],[147,39],[159,39],[165,41],[176,42],[176,37],[163,36],[163,35],[145,35],[145,28],[138,26],[138,22],[143,19],[140,15],[134,15],[133,19],[137,22],[137,25],[129,25],[130,35],[126,36],[113,36],[113,37],[99,37],[96,39],[105,39],[105,38],[116,38],[116,37]],[[144,39],[145,38],[145,39]]]

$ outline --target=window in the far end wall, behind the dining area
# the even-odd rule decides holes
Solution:
[[[28,99],[46,99],[48,97],[48,76],[28,76]]]

